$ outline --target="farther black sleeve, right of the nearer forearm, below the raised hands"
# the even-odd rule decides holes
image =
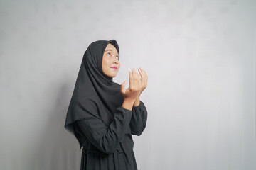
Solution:
[[[146,106],[142,101],[139,101],[139,106],[132,108],[132,119],[130,122],[130,128],[132,135],[142,135],[142,132],[146,128],[147,111]]]

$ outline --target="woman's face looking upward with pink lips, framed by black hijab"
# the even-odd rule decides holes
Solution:
[[[116,77],[120,68],[119,54],[112,44],[108,44],[102,57],[102,71],[108,77]]]

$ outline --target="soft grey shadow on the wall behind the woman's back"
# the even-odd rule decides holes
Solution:
[[[75,137],[65,130],[65,116],[71,96],[70,86],[60,85],[55,94],[55,104],[50,113],[48,123],[42,132],[41,142],[37,144],[30,165],[32,169],[80,169],[81,151]],[[52,86],[49,91],[52,90]],[[72,91],[73,92],[73,91]],[[54,96],[51,94],[50,96]]]

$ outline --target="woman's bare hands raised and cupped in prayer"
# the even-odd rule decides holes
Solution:
[[[139,67],[138,70],[139,72],[137,72],[136,69],[129,69],[128,89],[125,89],[127,81],[124,81],[121,84],[120,91],[122,95],[124,96],[124,98],[129,98],[131,101],[135,101],[137,98],[139,98],[140,94],[142,94],[142,91],[144,91],[147,86],[148,76],[146,72],[142,69],[142,67]]]

